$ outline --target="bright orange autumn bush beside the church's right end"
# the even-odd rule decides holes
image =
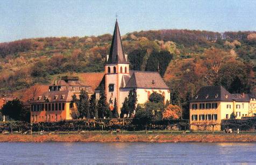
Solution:
[[[181,118],[181,108],[170,104],[162,113],[163,119],[179,119]]]

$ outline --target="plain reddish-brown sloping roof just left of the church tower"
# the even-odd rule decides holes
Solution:
[[[85,85],[91,86],[91,89],[95,91],[98,85],[101,83],[101,80],[104,77],[103,72],[98,73],[82,73],[80,75],[81,80]]]

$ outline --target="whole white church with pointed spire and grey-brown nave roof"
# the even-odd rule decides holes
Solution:
[[[123,106],[125,97],[132,89],[136,89],[137,103],[143,104],[153,92],[164,97],[164,102],[170,100],[170,91],[158,72],[133,71],[129,69],[129,59],[124,53],[122,38],[116,20],[109,55],[106,55],[104,77],[101,85],[105,88],[106,101],[113,108],[114,100],[117,109]],[[95,90],[96,99],[99,99],[99,88]]]

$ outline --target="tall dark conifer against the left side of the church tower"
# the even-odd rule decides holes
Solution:
[[[108,103],[106,102],[106,97],[104,94],[104,89],[102,88],[101,91],[99,92],[99,100],[97,102],[97,109],[98,109],[98,117],[99,118],[104,118],[104,117],[112,117],[112,112],[109,108]]]

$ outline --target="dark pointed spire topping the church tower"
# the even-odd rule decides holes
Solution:
[[[129,64],[129,60],[126,58],[127,57],[124,54],[122,39],[120,36],[118,22],[116,19],[116,25],[113,33],[107,64]]]

